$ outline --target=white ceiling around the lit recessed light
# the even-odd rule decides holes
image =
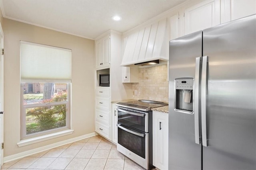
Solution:
[[[95,39],[132,29],[185,0],[1,0],[4,18]],[[121,21],[112,20],[119,15]]]

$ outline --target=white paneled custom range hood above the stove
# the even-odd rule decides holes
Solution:
[[[167,19],[143,27],[124,38],[126,48],[121,66],[149,66],[165,64],[168,57],[169,38]]]

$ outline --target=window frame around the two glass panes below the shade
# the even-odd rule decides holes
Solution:
[[[30,82],[20,82],[20,103],[21,103],[21,117],[20,117],[20,139],[25,140],[25,139],[30,139],[32,137],[38,137],[42,135],[47,135],[50,133],[55,133],[59,131],[64,131],[71,129],[71,123],[70,123],[70,117],[71,117],[71,112],[70,112],[70,90],[71,90],[71,83],[66,83],[67,84],[67,94],[68,98],[67,101],[64,102],[52,102],[52,103],[41,103],[41,104],[28,104],[24,105],[23,100],[24,100],[24,94],[23,94],[23,84],[24,83],[30,83]],[[44,82],[46,83],[46,82]],[[56,83],[56,82],[54,82]],[[61,82],[63,83],[63,82]],[[35,108],[35,107],[44,107],[44,106],[56,106],[56,105],[62,105],[66,104],[66,126],[64,127],[59,127],[55,129],[50,129],[46,131],[41,131],[41,132],[36,132],[36,133],[31,133],[31,134],[26,134],[26,109],[27,108]]]

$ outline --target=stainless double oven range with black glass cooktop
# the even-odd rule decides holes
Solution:
[[[166,106],[163,102],[135,100],[119,102],[117,150],[148,169],[152,165],[152,110]]]

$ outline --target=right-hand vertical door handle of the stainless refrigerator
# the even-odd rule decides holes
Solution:
[[[201,120],[202,120],[202,145],[204,147],[207,147],[207,135],[206,135],[207,63],[208,63],[208,56],[203,56],[202,57],[202,85],[201,85]]]

